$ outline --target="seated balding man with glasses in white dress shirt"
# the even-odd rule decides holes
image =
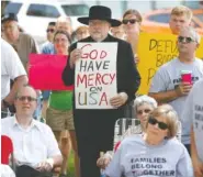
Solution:
[[[52,176],[53,167],[63,162],[50,128],[33,119],[36,101],[36,91],[23,86],[14,100],[15,115],[1,120],[1,133],[13,142],[16,177]]]

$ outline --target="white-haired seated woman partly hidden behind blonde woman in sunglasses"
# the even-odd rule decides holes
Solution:
[[[136,128],[136,129],[134,126],[128,128],[127,131],[124,133],[124,135],[121,137],[121,140],[132,134],[137,134],[138,130],[140,131],[139,133],[145,131],[147,118],[149,113],[155,108],[157,108],[157,101],[154,98],[144,95],[135,99],[133,107],[134,107],[133,109],[135,110],[136,119],[140,121],[140,128]],[[121,141],[119,141],[115,144],[114,151],[116,151],[120,144],[121,144]],[[98,167],[105,168],[106,165],[111,162],[111,158],[112,158],[112,155],[108,152],[106,154],[104,154],[104,156],[101,156],[98,159],[97,162]]]

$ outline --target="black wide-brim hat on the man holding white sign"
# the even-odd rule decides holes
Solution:
[[[119,20],[112,19],[111,9],[102,5],[93,5],[90,8],[89,16],[78,18],[80,23],[89,25],[90,20],[105,20],[111,23],[112,26],[120,26],[121,22]]]

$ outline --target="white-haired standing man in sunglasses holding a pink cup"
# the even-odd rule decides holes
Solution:
[[[158,103],[169,103],[181,118],[187,96],[195,81],[203,78],[203,62],[195,57],[200,35],[191,26],[183,27],[178,36],[179,55],[162,65],[153,78],[149,96]],[[191,74],[191,81],[182,80],[183,71]],[[181,118],[181,122],[183,117]],[[190,152],[190,133],[182,126],[182,143]]]

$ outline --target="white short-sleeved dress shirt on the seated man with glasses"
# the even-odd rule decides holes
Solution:
[[[1,133],[12,140],[14,158],[19,165],[35,168],[38,163],[47,158],[61,155],[50,128],[34,119],[27,129],[23,129],[15,117],[2,119]]]

